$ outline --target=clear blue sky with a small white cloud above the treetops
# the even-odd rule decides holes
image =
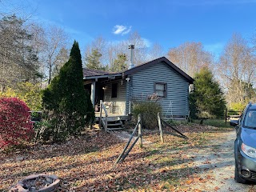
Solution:
[[[137,31],[148,46],[157,42],[167,51],[202,42],[218,55],[232,34],[256,33],[256,0],[23,0],[22,5],[30,19],[62,26],[80,47],[99,36],[120,41]]]

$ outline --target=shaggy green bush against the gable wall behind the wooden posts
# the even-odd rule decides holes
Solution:
[[[158,112],[162,112],[162,107],[154,101],[134,102],[133,114],[136,122],[138,114],[142,115],[142,126],[146,129],[158,127]]]

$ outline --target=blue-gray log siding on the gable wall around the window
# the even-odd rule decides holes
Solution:
[[[159,101],[164,117],[188,115],[189,82],[163,62],[133,74],[132,97],[154,94],[154,82],[167,83],[167,98]]]

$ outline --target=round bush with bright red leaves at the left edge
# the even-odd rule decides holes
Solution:
[[[29,110],[18,98],[0,98],[0,148],[17,146],[33,137]]]

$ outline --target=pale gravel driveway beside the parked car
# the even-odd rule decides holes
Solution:
[[[256,191],[254,183],[234,182],[234,139],[235,130],[222,133],[209,146],[189,152],[188,155],[196,157],[192,166],[198,169],[198,177],[207,178],[189,186],[191,191]]]

